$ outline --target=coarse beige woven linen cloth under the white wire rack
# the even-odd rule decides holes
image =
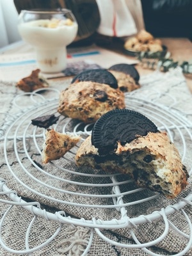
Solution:
[[[84,218],[84,220],[92,220],[93,218],[99,220],[119,220],[121,218],[121,214],[115,208],[112,209],[102,209],[102,208],[92,208],[92,207],[76,207],[74,205],[61,204],[59,201],[55,202],[54,200],[49,200],[44,196],[40,196],[37,193],[33,193],[33,190],[27,189],[26,186],[23,186],[22,183],[18,182],[16,177],[19,177],[20,180],[30,188],[33,188],[35,191],[39,191],[40,193],[45,193],[45,195],[50,195],[53,198],[58,198],[58,200],[66,200],[66,202],[79,202],[81,204],[109,204],[106,198],[98,199],[98,198],[84,198],[79,196],[74,196],[71,194],[60,193],[59,191],[55,191],[54,189],[50,189],[38,184],[38,182],[33,182],[33,179],[26,175],[23,170],[20,168],[20,163],[17,160],[17,157],[13,154],[13,141],[10,138],[10,141],[7,141],[7,152],[6,155],[8,157],[8,163],[10,164],[13,173],[10,172],[8,166],[6,164],[6,160],[4,159],[4,134],[9,129],[9,120],[15,120],[15,115],[26,115],[26,111],[36,104],[37,101],[41,102],[42,97],[45,97],[49,101],[54,97],[58,97],[58,92],[65,89],[70,83],[70,79],[65,81],[52,81],[50,86],[52,88],[51,93],[47,92],[40,95],[35,95],[34,98],[29,95],[24,95],[23,92],[19,91],[15,88],[15,83],[4,83],[3,81],[0,83],[0,93],[1,93],[1,164],[0,164],[0,177],[5,180],[6,186],[8,188],[17,192],[18,196],[22,196],[26,200],[26,202],[39,202],[42,209],[45,209],[47,212],[58,212],[65,211],[67,215],[72,216],[72,218]],[[153,72],[147,76],[143,76],[140,79],[141,90],[136,90],[132,93],[129,93],[129,97],[136,97],[137,99],[149,100],[150,102],[155,102],[157,106],[161,109],[161,106],[166,108],[166,111],[173,111],[174,113],[179,113],[180,116],[183,116],[187,120],[191,120],[192,114],[192,106],[191,106],[191,93],[189,92],[186,81],[180,68],[167,72],[163,74],[161,72]],[[55,91],[56,89],[56,91]],[[58,90],[58,91],[57,91]],[[37,101],[36,101],[37,100]],[[16,108],[15,106],[19,106],[20,108]],[[37,107],[38,109],[38,107]],[[6,114],[4,114],[6,113]],[[30,116],[31,118],[31,116]],[[15,120],[17,124],[17,118]],[[22,120],[24,123],[25,120]],[[175,120],[176,122],[176,120]],[[4,125],[6,124],[6,125]],[[189,123],[190,124],[190,123]],[[17,125],[16,125],[17,128]],[[14,127],[13,127],[14,129]],[[192,127],[189,125],[189,131],[191,131]],[[20,129],[20,135],[24,134],[24,131]],[[189,138],[189,134],[185,133],[184,137],[186,137],[186,155],[184,159],[184,164],[186,164],[188,171],[191,171],[192,161],[191,154],[192,146],[191,139]],[[177,134],[175,135],[175,141],[177,143],[177,147],[180,148],[180,137],[177,138]],[[177,140],[178,139],[178,140]],[[42,143],[42,138],[38,141],[38,143]],[[18,146],[19,147],[19,146]],[[33,154],[33,145],[31,145],[31,156],[36,163],[40,163],[39,154]],[[21,153],[22,154],[22,153]],[[68,191],[76,192],[76,186],[72,186],[68,184],[68,182],[61,182],[61,180],[44,180],[45,176],[37,172],[34,166],[29,163],[28,157],[23,155],[22,165],[29,170],[29,172],[35,175],[36,179],[47,182],[50,186],[54,185],[57,188],[68,189]],[[65,164],[65,159],[60,160]],[[61,163],[61,162],[60,162]],[[74,164],[70,164],[67,166],[71,170],[76,171],[76,166]],[[53,175],[64,175],[66,179],[70,179],[70,174],[64,174],[61,170],[53,170],[52,165],[48,164],[45,167],[45,172],[52,173]],[[54,173],[55,172],[55,173]],[[58,173],[59,172],[59,173]],[[65,176],[66,175],[66,176]],[[79,178],[81,182],[86,182],[84,178]],[[78,181],[79,181],[78,180]],[[54,182],[54,183],[52,183]],[[99,182],[97,179],[93,179],[94,182]],[[1,182],[3,184],[4,182]],[[98,193],[95,192],[94,188],[81,188],[82,193]],[[104,193],[109,193],[108,188],[104,187]],[[122,187],[122,189],[125,189]],[[143,193],[149,193],[148,191],[144,191]],[[189,178],[188,187],[179,195],[182,198],[185,198],[191,193],[191,178]],[[64,197],[64,199],[63,199]],[[25,246],[28,247],[28,243],[25,244],[26,232],[29,227],[29,224],[32,220],[34,223],[29,232],[29,248],[35,248],[42,243],[44,243],[49,237],[51,237],[56,229],[60,226],[59,221],[52,221],[47,218],[46,212],[44,216],[35,217],[35,214],[22,209],[22,207],[18,205],[14,205],[10,208],[10,211],[6,212],[6,210],[12,205],[12,203],[7,204],[2,200],[8,200],[6,196],[1,195],[0,197],[0,212],[1,217],[4,216],[4,221],[1,225],[1,239],[3,239],[4,243],[7,244],[9,248],[14,250],[24,250]],[[74,201],[73,201],[74,200]],[[131,207],[128,207],[127,214],[129,218],[134,218],[135,216],[147,215],[154,211],[160,211],[161,208],[165,208],[168,205],[174,205],[177,202],[178,198],[175,200],[166,200],[163,196],[159,196],[158,198],[154,198],[145,204],[138,204]],[[11,202],[11,200],[10,200]],[[158,243],[152,244],[148,248],[154,253],[159,253],[159,255],[174,255],[176,253],[182,252],[185,250],[186,244],[188,244],[188,236],[190,234],[190,225],[188,224],[188,218],[192,220],[192,208],[191,205],[188,204],[184,207],[183,211],[175,211],[173,214],[168,216],[168,220],[171,221],[179,230],[184,232],[186,236],[179,234],[179,232],[175,232],[172,225],[168,228],[168,233],[164,236],[163,239],[159,239]],[[92,228],[88,227],[79,227],[76,225],[62,225],[59,234],[54,238],[50,243],[47,242],[46,246],[42,246],[39,250],[35,250],[35,252],[29,255],[82,255],[83,252],[86,252],[86,246],[90,241],[90,237],[92,237],[93,232],[93,240],[92,244],[86,253],[86,255],[148,255],[147,249],[141,250],[137,248],[134,243],[133,233],[140,241],[140,243],[148,243],[150,241],[154,241],[154,239],[158,239],[163,236],[163,232],[167,223],[162,220],[155,221],[146,221],[146,223],[142,223],[141,225],[137,225],[136,227],[130,228],[109,228],[107,230],[100,230],[104,236],[111,239],[111,241],[115,241],[117,243],[129,244],[128,248],[123,248],[122,246],[118,246],[118,244],[107,243],[102,239],[98,234],[97,230],[92,230]],[[1,241],[0,239],[0,241]],[[4,249],[3,244],[1,244],[0,255],[16,255],[11,249]],[[22,252],[17,252],[17,255],[22,255]],[[186,250],[182,255],[192,255],[192,250]]]

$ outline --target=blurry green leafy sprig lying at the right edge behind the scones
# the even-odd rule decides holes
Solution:
[[[166,52],[162,56],[161,52],[140,52],[138,54],[138,60],[140,63],[150,69],[159,69],[163,72],[167,72],[171,68],[181,67],[184,74],[192,74],[192,63],[189,61],[174,61],[172,58],[169,58],[170,52]]]

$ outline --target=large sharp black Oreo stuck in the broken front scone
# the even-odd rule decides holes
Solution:
[[[139,112],[131,109],[114,109],[102,115],[92,129],[92,145],[102,156],[117,147],[130,143],[137,136],[158,132],[156,125]]]

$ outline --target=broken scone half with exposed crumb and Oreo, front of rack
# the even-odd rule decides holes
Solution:
[[[188,172],[166,132],[146,116],[115,109],[94,125],[76,154],[78,166],[130,175],[141,188],[175,198],[188,184]]]

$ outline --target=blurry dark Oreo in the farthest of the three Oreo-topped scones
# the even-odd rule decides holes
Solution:
[[[131,76],[134,81],[138,82],[140,80],[140,74],[138,73],[138,70],[133,65],[129,64],[116,64],[108,68],[108,70],[123,72],[129,76]]]

